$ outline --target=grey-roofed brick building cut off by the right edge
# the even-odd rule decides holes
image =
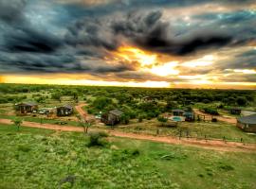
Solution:
[[[237,127],[247,132],[256,132],[256,113],[238,118]]]

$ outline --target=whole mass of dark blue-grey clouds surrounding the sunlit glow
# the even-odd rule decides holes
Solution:
[[[223,13],[221,17],[214,13],[197,15],[192,19],[202,20],[207,25],[182,25],[183,30],[175,29],[174,23],[164,20],[162,11],[153,11],[155,8],[200,6],[212,1],[122,0],[96,6],[60,2],[64,0],[0,0],[1,73],[84,72],[101,76],[115,73],[127,79],[158,79],[149,74],[135,74],[135,66],[127,62],[107,63],[104,57],[122,43],[134,44],[153,53],[188,57],[200,54],[201,50],[244,45],[255,37],[252,27],[255,15],[249,11]],[[219,0],[214,3],[229,7],[230,3],[244,6],[253,1]],[[42,12],[37,12],[44,6]],[[51,19],[54,22],[51,23]],[[226,68],[224,65],[253,67],[255,56],[240,56],[232,60],[232,64],[223,62]]]

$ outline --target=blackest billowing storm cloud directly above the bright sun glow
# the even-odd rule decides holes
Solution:
[[[201,49],[218,48],[232,42],[229,35],[205,30],[193,32],[180,39],[174,36],[171,26],[160,18],[160,11],[147,15],[131,12],[123,20],[113,22],[112,27],[117,35],[124,35],[144,49],[170,55],[188,55]]]

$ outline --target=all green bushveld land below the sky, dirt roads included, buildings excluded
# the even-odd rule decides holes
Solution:
[[[255,111],[255,91],[1,84],[0,92],[0,188],[256,187],[256,135],[229,113]],[[20,102],[38,110],[21,114]],[[74,112],[39,113],[64,104]],[[164,125],[164,114],[188,108],[210,119]],[[123,112],[119,123],[101,123],[113,109]]]

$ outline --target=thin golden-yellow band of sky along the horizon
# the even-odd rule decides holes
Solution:
[[[120,87],[148,87],[148,88],[200,88],[200,89],[245,89],[256,90],[256,83],[249,82],[211,82],[195,80],[193,82],[166,82],[166,81],[114,81],[78,79],[76,75],[43,75],[43,76],[1,76],[1,83],[16,84],[56,84],[56,85],[84,85],[84,86],[120,86]]]

